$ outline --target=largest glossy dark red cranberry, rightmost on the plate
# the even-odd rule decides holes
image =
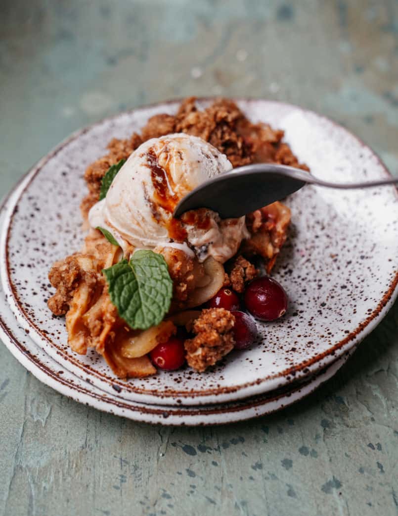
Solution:
[[[287,296],[278,281],[265,276],[249,283],[245,292],[245,304],[257,319],[272,321],[286,312]]]

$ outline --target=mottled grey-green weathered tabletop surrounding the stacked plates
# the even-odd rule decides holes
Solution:
[[[76,128],[184,95],[330,116],[398,173],[398,4],[3,0],[1,193]],[[0,347],[0,514],[398,513],[398,306],[340,373],[270,417],[162,428],[42,385]]]

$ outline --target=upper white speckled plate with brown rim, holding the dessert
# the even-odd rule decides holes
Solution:
[[[312,173],[359,181],[388,175],[375,154],[344,128],[314,112],[267,101],[239,101],[253,121],[285,130]],[[51,264],[79,249],[79,203],[85,167],[112,137],[139,130],[171,102],[137,109],[72,135],[16,189],[5,213],[1,275],[10,308],[33,341],[62,368],[118,398],[155,405],[219,404],[269,393],[322,370],[343,356],[387,313],[397,294],[398,197],[394,187],[344,192],[306,186],[287,203],[292,229],[274,277],[289,295],[286,316],[259,324],[262,342],[232,352],[213,371],[184,369],[120,381],[93,351],[66,344],[64,320],[46,307]]]

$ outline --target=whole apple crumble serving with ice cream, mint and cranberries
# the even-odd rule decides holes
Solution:
[[[49,272],[56,293],[48,307],[65,315],[74,351],[95,348],[120,378],[185,362],[203,372],[255,342],[252,316],[285,313],[283,288],[258,277],[252,260],[271,271],[286,240],[287,206],[275,202],[237,219],[205,206],[173,217],[189,191],[233,167],[271,162],[308,170],[282,138],[231,101],[199,110],[190,98],[177,115],[156,115],[141,134],[109,143],[85,172],[83,248]]]

